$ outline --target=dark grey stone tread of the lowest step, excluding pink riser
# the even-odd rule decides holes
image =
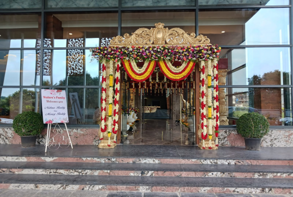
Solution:
[[[293,179],[280,178],[0,174],[0,183],[293,189]]]

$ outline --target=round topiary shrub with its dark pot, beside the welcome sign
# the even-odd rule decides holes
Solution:
[[[39,135],[44,127],[43,118],[39,113],[25,111],[14,118],[12,127],[21,137],[22,147],[34,147],[36,135]]]

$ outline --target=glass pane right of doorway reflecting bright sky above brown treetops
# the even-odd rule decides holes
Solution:
[[[227,85],[291,85],[290,53],[289,47],[224,49],[219,69],[229,69]]]

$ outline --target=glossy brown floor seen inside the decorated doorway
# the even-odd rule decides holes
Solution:
[[[195,138],[193,129],[169,119],[144,119],[135,124],[133,129],[124,132],[124,135],[128,134],[122,138],[124,144],[193,145]]]

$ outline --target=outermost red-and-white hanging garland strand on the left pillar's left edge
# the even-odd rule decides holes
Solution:
[[[103,138],[103,132],[107,130],[107,126],[105,125],[106,122],[106,66],[105,62],[102,62],[102,97],[101,97],[101,103],[102,103],[102,116],[101,116],[101,133],[100,133],[100,140]]]

